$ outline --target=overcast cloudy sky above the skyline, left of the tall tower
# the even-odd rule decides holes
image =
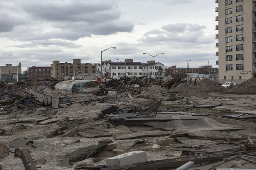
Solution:
[[[153,60],[215,67],[214,0],[0,0],[0,65]]]

